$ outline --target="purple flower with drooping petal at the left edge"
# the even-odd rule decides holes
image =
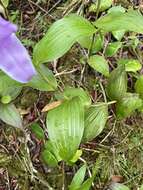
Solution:
[[[0,17],[0,69],[14,80],[26,83],[36,70],[16,31],[16,25]]]

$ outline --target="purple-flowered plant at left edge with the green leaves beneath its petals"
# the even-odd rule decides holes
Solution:
[[[28,51],[16,36],[17,30],[15,24],[0,16],[0,119],[21,128],[21,116],[12,100],[19,95],[22,87],[53,91],[57,82],[44,65],[35,68]]]

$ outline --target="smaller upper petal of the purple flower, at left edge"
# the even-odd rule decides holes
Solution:
[[[0,16],[0,40],[17,31],[15,24],[6,21]]]

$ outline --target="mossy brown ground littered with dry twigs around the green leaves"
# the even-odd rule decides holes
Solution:
[[[137,1],[122,1],[124,6],[138,6]],[[9,6],[10,19],[20,26],[19,36],[23,43],[32,51],[47,31],[48,26],[69,12],[83,9],[88,17],[88,1],[44,1],[44,0],[12,0]],[[92,15],[94,18],[95,15]],[[70,53],[61,58],[55,74],[65,71],[57,77],[63,88],[68,84],[83,86],[88,89],[93,101],[103,99],[102,91],[93,71],[80,63],[83,50],[72,48]],[[84,71],[84,75],[83,75]],[[106,81],[103,81],[106,83]],[[41,109],[53,100],[52,93],[41,93],[32,89],[24,89],[16,100],[17,107],[24,114],[25,134],[1,123],[0,128],[0,190],[47,190],[67,189],[72,176],[82,165],[69,167],[61,163],[59,168],[49,168],[41,158],[43,142],[36,139],[29,129],[29,123],[38,121],[45,129],[45,114]],[[87,161],[89,169],[100,159],[98,175],[93,189],[106,189],[111,181],[125,182],[131,189],[137,190],[143,184],[143,115],[114,122],[110,118],[104,132],[93,142],[81,145],[82,158]],[[88,174],[87,174],[88,175]]]

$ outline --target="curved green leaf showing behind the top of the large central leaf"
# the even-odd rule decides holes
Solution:
[[[73,97],[79,97],[84,106],[91,105],[91,98],[88,92],[84,91],[82,88],[67,87],[63,92],[63,96],[66,99],[72,99]]]

